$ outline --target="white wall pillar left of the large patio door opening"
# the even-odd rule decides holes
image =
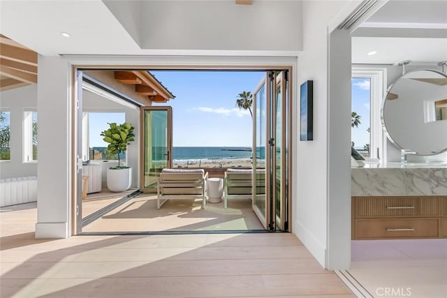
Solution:
[[[71,234],[73,147],[71,69],[64,57],[38,55],[38,154],[36,238]]]

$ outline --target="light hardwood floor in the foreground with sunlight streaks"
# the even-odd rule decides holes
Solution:
[[[1,208],[1,297],[353,297],[293,234],[34,239],[35,207]]]

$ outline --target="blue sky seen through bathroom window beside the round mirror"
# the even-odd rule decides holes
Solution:
[[[369,133],[367,129],[369,122],[370,103],[370,80],[365,77],[354,77],[352,79],[352,111],[360,115],[360,124],[351,130],[351,140],[354,147],[363,149],[365,144],[369,144]]]

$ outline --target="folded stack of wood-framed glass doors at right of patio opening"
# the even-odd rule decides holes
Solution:
[[[288,230],[288,71],[268,71],[254,90],[252,207],[266,230]]]

